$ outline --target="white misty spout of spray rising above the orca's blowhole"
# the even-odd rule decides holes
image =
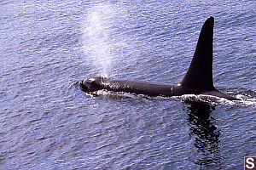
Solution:
[[[116,44],[113,39],[119,8],[109,3],[98,3],[90,8],[84,22],[84,54],[102,77],[108,77],[113,69]]]

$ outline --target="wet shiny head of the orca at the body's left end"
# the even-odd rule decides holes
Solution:
[[[80,87],[84,92],[94,92],[102,87],[102,77],[90,77],[79,82]]]

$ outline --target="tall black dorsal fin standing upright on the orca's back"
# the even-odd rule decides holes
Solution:
[[[212,42],[214,18],[206,20],[195,48],[195,54],[185,77],[180,84],[191,90],[213,90],[212,82]]]

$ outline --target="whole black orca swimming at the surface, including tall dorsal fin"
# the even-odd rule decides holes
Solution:
[[[152,84],[126,80],[113,80],[105,77],[90,77],[79,82],[85,92],[106,89],[114,92],[146,94],[148,96],[180,96],[183,94],[205,94],[224,99],[236,100],[227,94],[219,92],[212,81],[212,42],[214,18],[206,20],[195,48],[195,54],[189,65],[189,70],[183,80],[177,85]]]

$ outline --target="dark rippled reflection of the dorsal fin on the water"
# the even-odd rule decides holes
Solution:
[[[199,153],[193,161],[201,166],[223,167],[223,156],[219,150],[220,130],[214,126],[217,121],[210,116],[215,107],[195,101],[186,103],[189,105],[189,136],[195,140],[194,145]]]

